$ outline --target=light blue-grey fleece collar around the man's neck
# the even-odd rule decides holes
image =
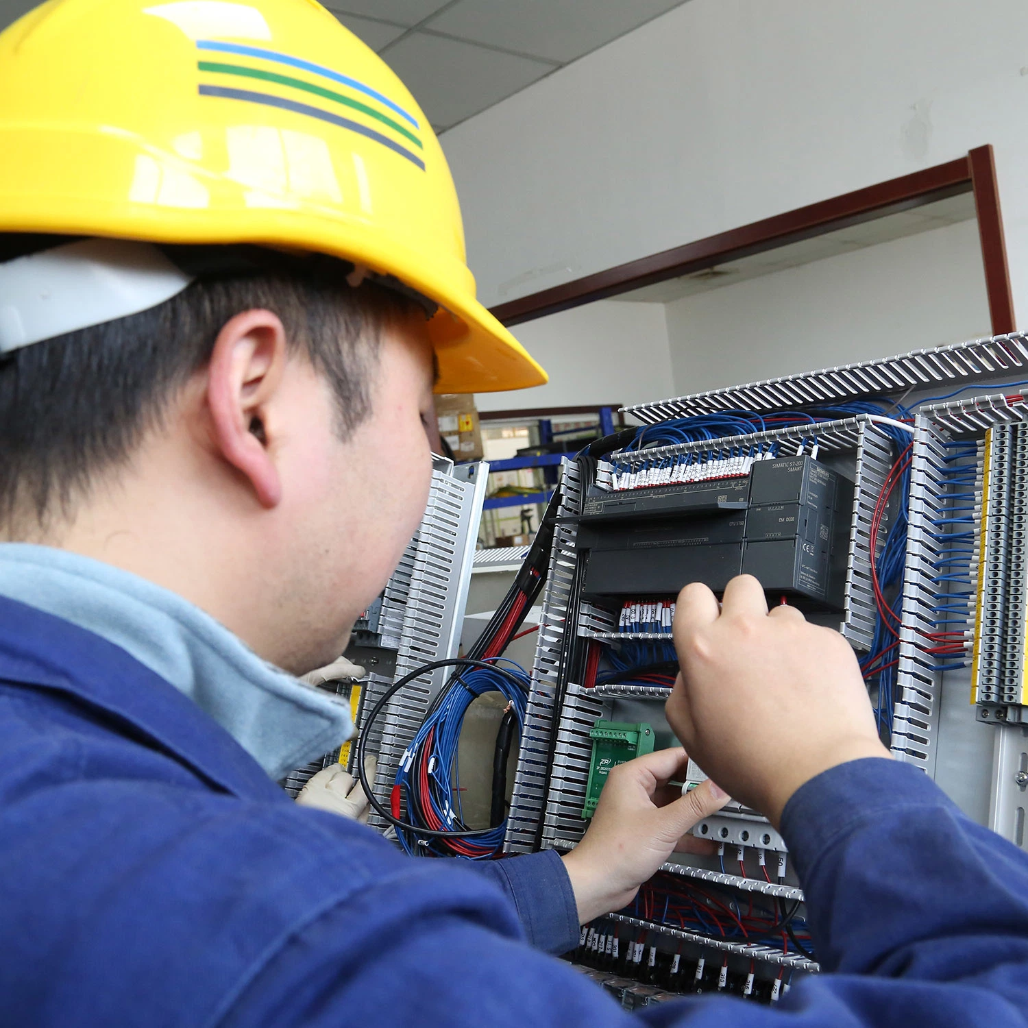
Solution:
[[[276,780],[354,734],[347,703],[261,660],[199,608],[128,572],[66,550],[0,543],[0,595],[125,650]]]

